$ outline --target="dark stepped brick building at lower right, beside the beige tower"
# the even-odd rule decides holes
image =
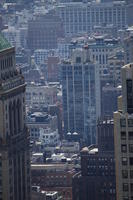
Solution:
[[[81,151],[81,172],[73,176],[73,199],[116,200],[113,120],[98,122],[98,146]]]

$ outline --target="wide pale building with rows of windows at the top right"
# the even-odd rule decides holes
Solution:
[[[124,1],[104,2],[67,2],[60,3],[56,10],[64,24],[66,35],[92,33],[94,26],[113,25],[124,29],[131,24],[132,4]]]

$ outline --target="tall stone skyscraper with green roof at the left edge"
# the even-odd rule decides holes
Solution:
[[[0,35],[0,200],[30,200],[25,86],[15,48]]]

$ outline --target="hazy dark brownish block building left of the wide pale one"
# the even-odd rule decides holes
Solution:
[[[28,23],[28,47],[36,49],[55,49],[57,39],[63,37],[61,19],[54,13],[36,16]]]

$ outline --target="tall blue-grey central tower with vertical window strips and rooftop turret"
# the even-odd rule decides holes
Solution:
[[[98,68],[87,56],[87,49],[76,49],[71,61],[61,64],[64,132],[77,132],[92,144],[101,111],[100,81]]]

